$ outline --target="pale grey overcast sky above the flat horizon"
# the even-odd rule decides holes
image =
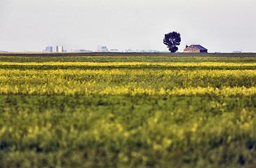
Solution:
[[[168,50],[164,34],[209,52],[256,52],[255,0],[0,0],[0,50]]]

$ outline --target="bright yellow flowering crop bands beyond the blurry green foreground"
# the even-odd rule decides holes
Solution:
[[[256,66],[255,63],[0,62],[13,66]],[[0,69],[0,94],[252,96],[255,70]]]

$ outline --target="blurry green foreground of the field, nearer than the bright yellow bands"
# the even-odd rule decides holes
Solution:
[[[0,96],[0,167],[252,167],[255,97]]]

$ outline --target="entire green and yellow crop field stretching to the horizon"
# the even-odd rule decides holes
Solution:
[[[0,57],[0,167],[255,167],[256,57]]]

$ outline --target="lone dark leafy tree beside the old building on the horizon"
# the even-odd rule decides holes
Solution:
[[[170,52],[177,51],[178,48],[176,47],[176,45],[180,45],[180,41],[181,41],[180,34],[177,33],[176,31],[165,34],[163,38],[163,43],[167,45]]]

